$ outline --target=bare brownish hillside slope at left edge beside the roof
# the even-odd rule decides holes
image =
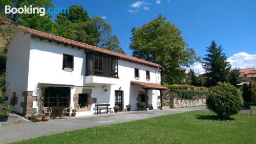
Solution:
[[[5,47],[11,40],[16,28],[11,20],[0,14],[0,53],[4,52]]]

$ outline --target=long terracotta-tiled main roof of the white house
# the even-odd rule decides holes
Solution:
[[[77,41],[74,41],[74,40],[62,38],[62,37],[59,37],[59,36],[55,36],[55,35],[52,35],[52,34],[48,34],[48,33],[44,33],[44,32],[41,32],[41,31],[33,30],[31,28],[20,26],[20,25],[18,26],[18,28],[19,28],[19,30],[22,30],[26,33],[29,33],[31,36],[34,36],[34,37],[37,37],[37,38],[42,38],[42,39],[46,39],[46,40],[50,40],[50,41],[54,41],[54,42],[59,42],[59,43],[62,43],[62,44],[74,46],[74,47],[81,48],[81,49],[87,49],[87,50],[102,52],[102,53],[105,53],[105,54],[117,56],[117,57],[119,57],[120,59],[123,59],[123,60],[132,61],[132,62],[136,62],[136,63],[144,64],[144,65],[147,65],[147,66],[152,66],[152,67],[162,69],[161,65],[158,65],[158,64],[155,64],[155,63],[152,63],[152,62],[148,62],[148,61],[144,61],[144,60],[141,60],[141,59],[138,59],[136,57],[129,56],[129,55],[126,55],[126,54],[122,54],[122,53],[114,52],[114,51],[111,51],[111,50],[103,49],[103,48],[100,48],[100,47],[97,47],[97,46],[92,46],[92,45],[89,45],[89,44],[85,44],[85,43],[77,42]]]

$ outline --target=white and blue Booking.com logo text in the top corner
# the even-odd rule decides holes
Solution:
[[[38,8],[38,7],[33,7],[30,5],[30,7],[24,6],[20,8],[11,8],[11,6],[5,6],[5,14],[39,14],[40,16],[44,16],[46,14],[59,14],[59,13],[68,13],[69,14],[69,8],[53,8],[50,7],[47,9],[46,8]]]

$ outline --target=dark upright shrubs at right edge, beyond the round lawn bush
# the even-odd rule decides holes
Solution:
[[[244,83],[243,99],[245,102],[256,101],[256,83],[255,83],[255,81],[251,81],[249,84]]]

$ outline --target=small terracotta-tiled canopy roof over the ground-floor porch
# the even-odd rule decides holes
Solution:
[[[168,90],[168,88],[163,87],[163,85],[151,83],[151,82],[141,82],[141,81],[131,81],[131,84],[138,85],[143,89],[150,89],[150,90]]]

